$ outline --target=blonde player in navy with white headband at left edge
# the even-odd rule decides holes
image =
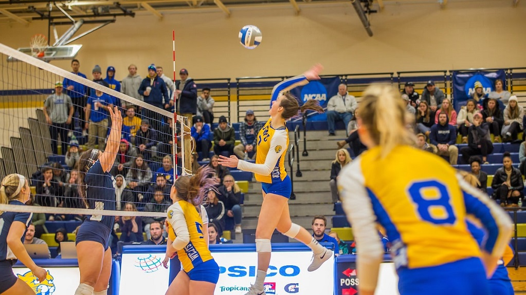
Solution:
[[[9,174],[2,180],[0,186],[0,204],[25,206],[29,200],[29,183],[21,174]],[[33,275],[43,282],[47,272],[38,267],[27,254],[22,238],[33,213],[2,212],[0,211],[0,294],[2,295],[31,295],[35,294],[26,282],[17,278],[13,273],[13,265],[20,260]]]

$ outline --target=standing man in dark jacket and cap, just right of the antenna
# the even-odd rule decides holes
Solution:
[[[174,97],[177,100],[177,114],[188,117],[192,122],[192,117],[197,113],[197,85],[194,79],[188,77],[188,70],[181,69],[179,78],[175,84]]]

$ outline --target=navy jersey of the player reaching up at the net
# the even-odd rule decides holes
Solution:
[[[102,170],[98,160],[89,168],[84,181],[87,185],[86,199],[90,209],[115,210],[115,178]],[[115,222],[115,216],[90,215],[87,218],[101,222],[110,229]]]

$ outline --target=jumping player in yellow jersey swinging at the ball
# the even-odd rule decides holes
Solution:
[[[286,121],[307,110],[323,112],[317,100],[309,99],[299,106],[289,90],[306,85],[309,80],[319,80],[323,67],[316,65],[303,75],[286,79],[272,89],[270,119],[257,135],[256,163],[242,161],[237,156],[219,156],[219,164],[239,170],[253,172],[263,188],[263,204],[256,228],[256,251],[258,271],[256,282],[246,295],[264,294],[264,281],[270,263],[270,238],[274,229],[287,237],[297,239],[312,249],[312,263],[308,271],[318,269],[332,256],[332,251],[321,246],[309,232],[290,220],[288,200],[292,191],[290,177],[285,171],[285,153],[289,145]]]

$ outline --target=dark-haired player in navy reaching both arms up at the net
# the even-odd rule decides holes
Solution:
[[[112,119],[104,152],[87,150],[80,155],[78,170],[79,195],[86,207],[95,210],[115,210],[114,178],[109,171],[115,162],[120,143],[123,117],[117,107],[108,108]],[[112,250],[109,236],[115,216],[88,215],[77,231],[76,246],[80,284],[75,295],[106,295],[112,272]]]

